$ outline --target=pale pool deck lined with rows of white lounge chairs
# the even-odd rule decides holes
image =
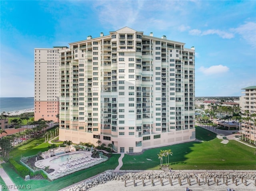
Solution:
[[[53,159],[57,159],[60,156],[64,155],[71,155],[72,154],[82,154],[82,156],[78,158],[72,158],[69,157],[68,161],[60,161],[51,163]],[[102,163],[106,161],[106,159],[103,158],[91,158],[91,152],[90,151],[76,151],[76,152],[69,152],[69,153],[63,153],[59,154],[57,156],[53,156],[51,158],[42,159],[35,161],[35,166],[41,169],[44,169],[46,166],[49,166],[49,169],[54,169],[54,172],[49,174],[50,179],[57,179],[60,177],[63,177],[65,175],[68,175],[70,173],[74,173],[76,171],[86,169],[88,167],[94,166],[96,164]]]

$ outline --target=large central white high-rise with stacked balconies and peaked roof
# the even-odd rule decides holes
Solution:
[[[60,140],[116,152],[195,140],[194,47],[125,27],[60,50]]]

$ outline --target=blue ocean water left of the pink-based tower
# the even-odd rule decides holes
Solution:
[[[0,113],[34,108],[33,97],[1,97]]]

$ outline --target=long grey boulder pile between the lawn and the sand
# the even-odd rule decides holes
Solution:
[[[207,178],[213,179],[214,177],[217,179],[225,178],[225,179],[251,179],[256,180],[256,173],[255,172],[200,172],[200,173],[191,173],[191,172],[177,172],[177,173],[170,173],[170,172],[162,172],[162,171],[144,171],[144,172],[113,172],[113,171],[106,171],[106,173],[98,175],[94,179],[88,179],[83,183],[78,185],[74,185],[73,187],[66,189],[65,191],[86,191],[98,184],[104,184],[107,181],[116,180],[116,181],[124,181],[124,180],[141,180],[141,179],[180,179],[184,180],[187,178],[195,179],[198,178]]]

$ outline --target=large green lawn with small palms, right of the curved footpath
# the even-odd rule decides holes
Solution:
[[[121,169],[159,169],[160,159],[157,154],[160,150],[171,149],[173,156],[170,156],[170,165],[173,169],[256,170],[255,148],[244,146],[235,140],[222,144],[220,143],[222,140],[214,137],[214,133],[196,127],[196,138],[203,142],[187,142],[154,148],[146,150],[141,155],[125,155]]]

